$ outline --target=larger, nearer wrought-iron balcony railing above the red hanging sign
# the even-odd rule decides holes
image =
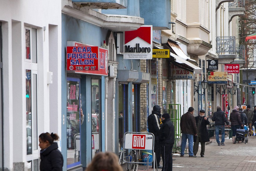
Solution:
[[[216,53],[219,55],[236,54],[235,36],[216,37]]]

